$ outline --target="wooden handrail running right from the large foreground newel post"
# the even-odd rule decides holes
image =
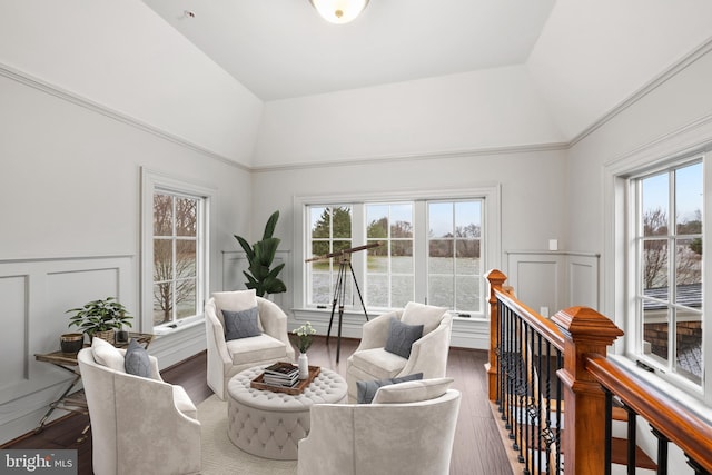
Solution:
[[[585,367],[702,468],[712,473],[712,427],[649,382],[620,369],[599,354],[586,355]]]

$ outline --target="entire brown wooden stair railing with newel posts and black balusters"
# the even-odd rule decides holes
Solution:
[[[614,398],[629,413],[629,474],[635,473],[637,415],[657,437],[659,474],[668,473],[670,443],[695,474],[712,474],[712,426],[606,358],[623,335],[613,321],[585,307],[545,318],[516,299],[500,270],[487,280],[488,396],[525,475],[610,474]]]

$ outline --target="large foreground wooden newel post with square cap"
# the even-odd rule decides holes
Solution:
[[[585,355],[606,355],[623,335],[613,321],[586,307],[572,307],[552,317],[564,334],[564,367],[557,372],[564,389],[564,474],[605,473],[605,396],[586,372]]]

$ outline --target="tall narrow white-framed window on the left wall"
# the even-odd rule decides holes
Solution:
[[[212,190],[144,170],[141,325],[161,333],[202,315]]]

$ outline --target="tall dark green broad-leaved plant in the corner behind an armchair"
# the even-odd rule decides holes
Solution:
[[[254,288],[255,293],[260,297],[264,297],[266,294],[287,291],[285,283],[277,277],[285,267],[285,263],[270,269],[275,260],[277,247],[281,241],[281,239],[273,237],[275,227],[277,226],[277,219],[279,219],[279,211],[271,214],[265,226],[263,239],[251,246],[245,238],[235,235],[235,239],[237,239],[240,247],[245,250],[247,261],[249,263],[249,268],[243,271],[245,277],[247,277],[245,286],[247,286],[247,288]]]

